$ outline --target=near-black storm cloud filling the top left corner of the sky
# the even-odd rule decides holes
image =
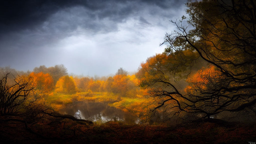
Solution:
[[[67,2],[66,2],[67,3]],[[70,5],[70,4],[69,4]],[[33,28],[59,8],[65,7],[51,1],[1,1],[1,32]]]

